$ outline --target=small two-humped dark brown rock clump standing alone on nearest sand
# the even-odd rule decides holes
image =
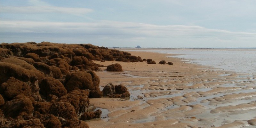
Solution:
[[[103,88],[102,92],[103,96],[110,98],[130,97],[130,93],[128,92],[127,88],[122,84],[114,86],[113,84],[109,83]]]

